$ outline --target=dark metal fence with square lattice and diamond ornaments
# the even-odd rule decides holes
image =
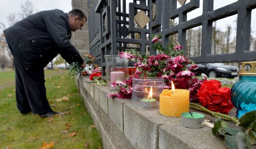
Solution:
[[[104,55],[129,48],[136,48],[141,54],[156,54],[150,45],[150,37],[156,33],[162,35],[164,47],[169,44],[169,37],[177,34],[186,49],[186,31],[202,26],[197,50],[200,52],[190,59],[198,63],[256,60],[256,51],[249,51],[251,11],[256,8],[256,0],[238,0],[216,10],[214,0],[202,3],[202,15],[187,21],[187,13],[199,8],[200,0],[190,0],[179,8],[177,0],[94,0],[88,16],[90,54],[97,57],[104,75]],[[213,22],[233,15],[237,15],[235,52],[213,55]],[[179,21],[172,26],[170,20],[175,18]]]

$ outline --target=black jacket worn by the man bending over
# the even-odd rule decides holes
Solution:
[[[68,14],[55,9],[35,13],[4,31],[14,58],[26,69],[45,67],[58,53],[68,62],[83,63],[70,43]]]

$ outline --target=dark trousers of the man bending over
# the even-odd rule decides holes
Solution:
[[[23,113],[40,114],[52,111],[46,97],[43,67],[26,69],[14,58],[16,101]]]

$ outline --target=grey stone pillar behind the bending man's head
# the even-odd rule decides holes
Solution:
[[[88,19],[87,0],[72,0],[72,9],[82,10]],[[82,30],[72,32],[71,43],[79,51],[81,56],[89,54],[88,22],[85,23],[85,25],[82,27]]]

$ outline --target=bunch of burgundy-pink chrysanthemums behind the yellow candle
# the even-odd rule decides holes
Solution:
[[[119,87],[117,94],[108,94],[108,97],[128,98],[132,94],[132,79],[144,77],[163,77],[164,88],[171,88],[171,81],[175,88],[188,89],[190,91],[190,101],[198,102],[197,91],[205,79],[199,80],[191,70],[198,66],[192,60],[184,56],[185,51],[182,46],[168,45],[162,47],[160,36],[152,38],[153,50],[158,50],[156,56],[140,55],[135,49],[128,49],[125,52],[119,52],[121,58],[134,59],[137,61],[134,66],[137,67],[133,76],[128,76],[124,81],[117,81],[112,84],[113,87]],[[188,67],[188,65],[190,65]]]

